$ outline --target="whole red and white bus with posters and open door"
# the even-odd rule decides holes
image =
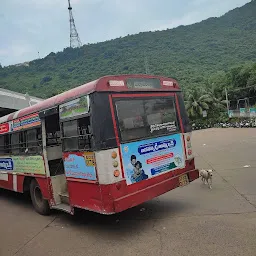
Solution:
[[[0,187],[114,214],[198,178],[177,81],[105,76],[0,118]]]

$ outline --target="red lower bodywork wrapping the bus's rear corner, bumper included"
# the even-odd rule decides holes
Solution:
[[[104,171],[106,170],[98,169],[98,172]],[[132,185],[127,185],[124,179],[100,185],[86,181],[68,181],[70,204],[102,214],[114,214],[179,187],[179,176],[183,174],[188,174],[190,182],[199,177],[194,159],[186,161],[183,169],[169,171]]]

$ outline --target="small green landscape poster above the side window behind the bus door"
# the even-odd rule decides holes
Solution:
[[[89,112],[89,96],[69,101],[60,105],[60,119],[73,118]]]

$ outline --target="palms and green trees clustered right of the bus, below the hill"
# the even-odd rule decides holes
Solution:
[[[202,113],[207,110],[209,118],[219,120],[221,113],[227,118],[227,101],[225,88],[228,92],[229,107],[236,108],[237,100],[247,98],[249,105],[256,104],[256,64],[246,63],[231,68],[227,72],[217,72],[206,81],[203,88],[189,89],[185,93],[186,108],[192,120],[202,119]]]

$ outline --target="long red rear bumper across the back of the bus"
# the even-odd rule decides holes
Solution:
[[[145,189],[138,190],[134,193],[128,194],[124,197],[114,200],[115,213],[122,212],[146,201],[149,201],[155,197],[158,197],[172,189],[180,187],[179,177],[187,174],[189,183],[196,180],[199,177],[199,171],[197,169],[184,172],[178,176],[171,177],[160,183],[151,185]]]

